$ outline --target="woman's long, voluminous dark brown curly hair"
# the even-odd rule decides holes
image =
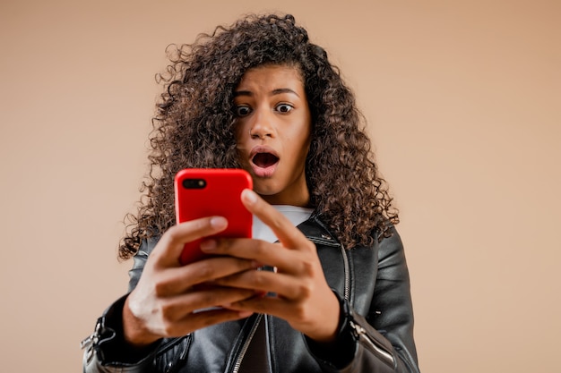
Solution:
[[[354,94],[292,15],[247,15],[167,53],[170,64],[157,76],[164,92],[152,118],[150,170],[137,214],[127,215],[121,259],[175,224],[173,179],[179,170],[240,167],[234,89],[248,69],[265,64],[295,66],[302,74],[312,115],[306,182],[315,214],[347,249],[372,244],[375,232],[387,233],[399,222]]]

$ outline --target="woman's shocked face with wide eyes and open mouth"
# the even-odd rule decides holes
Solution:
[[[306,155],[311,115],[296,67],[248,70],[235,91],[240,163],[272,205],[307,206]]]

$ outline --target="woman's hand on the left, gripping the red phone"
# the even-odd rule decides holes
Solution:
[[[210,216],[175,225],[161,236],[125,301],[123,330],[128,343],[140,347],[251,314],[221,309],[220,305],[251,298],[254,291],[211,282],[254,270],[259,264],[232,257],[203,259],[186,266],[179,263],[186,242],[219,233],[227,225],[225,218]]]

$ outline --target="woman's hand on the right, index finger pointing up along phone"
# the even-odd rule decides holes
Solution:
[[[201,249],[206,253],[245,258],[276,267],[276,272],[239,271],[214,282],[260,294],[273,292],[276,296],[254,296],[224,306],[283,318],[290,326],[317,342],[332,342],[339,325],[339,301],[325,281],[315,244],[254,191],[244,191],[242,201],[249,211],[271,227],[280,244],[221,239],[205,241]]]

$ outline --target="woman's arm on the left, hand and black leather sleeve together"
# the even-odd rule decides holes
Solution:
[[[162,339],[184,337],[204,326],[246,318],[244,312],[216,306],[246,299],[254,292],[195,285],[255,269],[254,263],[213,258],[182,266],[178,260],[186,242],[218,233],[227,224],[216,216],[193,220],[172,226],[155,245],[148,242],[150,250],[142,246],[130,271],[131,292],[106,310],[83,345],[85,372],[152,371]]]

